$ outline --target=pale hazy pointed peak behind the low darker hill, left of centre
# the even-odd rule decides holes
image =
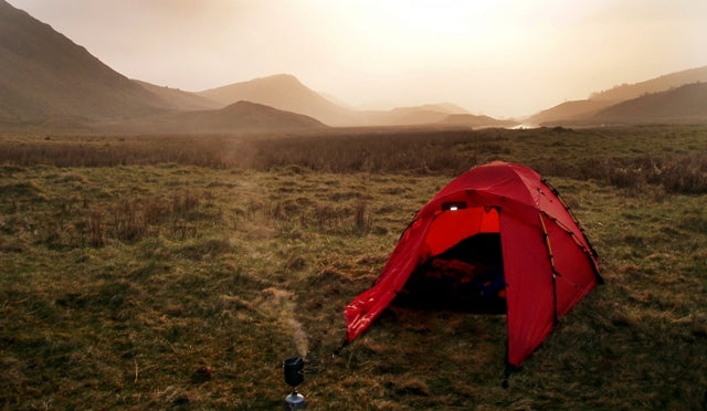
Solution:
[[[282,110],[304,114],[330,126],[357,123],[356,112],[334,104],[289,74],[254,78],[197,94],[223,105],[239,101],[264,104]]]

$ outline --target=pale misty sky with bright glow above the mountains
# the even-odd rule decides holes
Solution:
[[[130,77],[513,117],[707,65],[706,0],[9,0]]]

